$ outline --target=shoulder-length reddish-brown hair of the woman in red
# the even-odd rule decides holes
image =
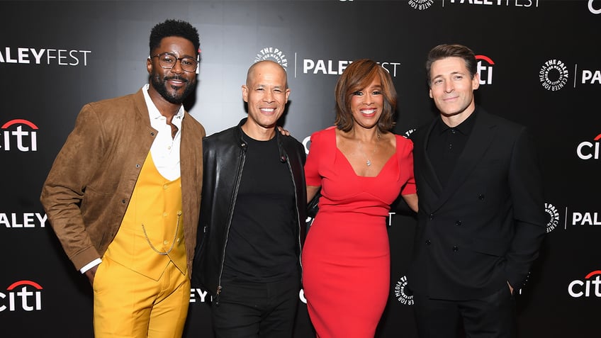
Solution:
[[[396,108],[396,91],[391,74],[373,60],[361,59],[349,64],[336,83],[336,120],[334,124],[339,130],[347,132],[353,128],[351,99],[355,91],[360,91],[379,77],[382,82],[384,104],[382,115],[378,120],[378,130],[384,133],[391,130],[395,123],[393,113]]]

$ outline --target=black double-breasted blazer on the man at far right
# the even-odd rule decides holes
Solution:
[[[522,125],[477,108],[442,187],[426,152],[435,120],[412,134],[419,196],[409,288],[431,298],[481,298],[521,288],[546,231],[541,174]]]

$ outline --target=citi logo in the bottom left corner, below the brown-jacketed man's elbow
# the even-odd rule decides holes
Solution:
[[[42,287],[33,281],[16,281],[0,292],[0,312],[42,310]]]

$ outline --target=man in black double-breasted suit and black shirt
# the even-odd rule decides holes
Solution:
[[[474,103],[476,57],[439,45],[426,63],[440,111],[412,135],[419,196],[414,293],[422,338],[515,337],[514,289],[522,288],[546,216],[534,144],[522,125]]]

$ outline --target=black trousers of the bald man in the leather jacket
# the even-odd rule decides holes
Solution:
[[[222,281],[219,303],[212,305],[217,338],[292,337],[300,277],[253,283]]]

